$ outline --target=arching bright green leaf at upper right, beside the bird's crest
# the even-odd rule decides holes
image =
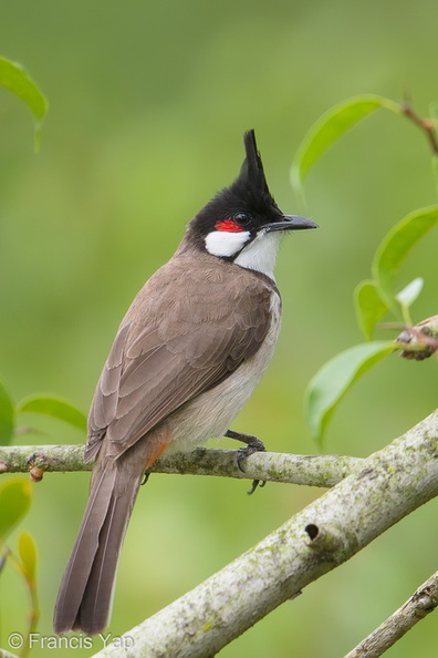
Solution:
[[[299,146],[291,169],[293,188],[301,192],[302,182],[321,155],[362,119],[380,107],[401,114],[397,103],[374,94],[353,96],[325,112]]]

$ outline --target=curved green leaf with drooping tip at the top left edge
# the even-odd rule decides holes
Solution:
[[[42,123],[49,109],[45,96],[21,64],[4,58],[0,58],[0,84],[21,99],[32,112],[35,124],[35,151],[38,151]]]

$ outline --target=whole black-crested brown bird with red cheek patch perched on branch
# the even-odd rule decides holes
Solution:
[[[279,336],[273,269],[282,236],[317,225],[279,209],[253,130],[243,142],[238,177],[191,219],[174,256],[137,294],[104,364],[87,423],[90,495],[55,604],[56,634],[107,626],[133,505],[161,453],[223,435],[246,444],[239,463],[264,450],[230,425]]]

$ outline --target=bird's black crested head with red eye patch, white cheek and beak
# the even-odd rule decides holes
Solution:
[[[283,215],[269,191],[254,131],[244,133],[243,141],[246,158],[239,177],[204,206],[185,236],[186,244],[227,260],[237,260],[255,238],[272,232],[316,227],[304,217]],[[278,245],[278,239],[268,244],[273,241]]]

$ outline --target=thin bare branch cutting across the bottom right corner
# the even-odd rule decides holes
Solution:
[[[345,658],[377,658],[438,606],[438,572]]]

